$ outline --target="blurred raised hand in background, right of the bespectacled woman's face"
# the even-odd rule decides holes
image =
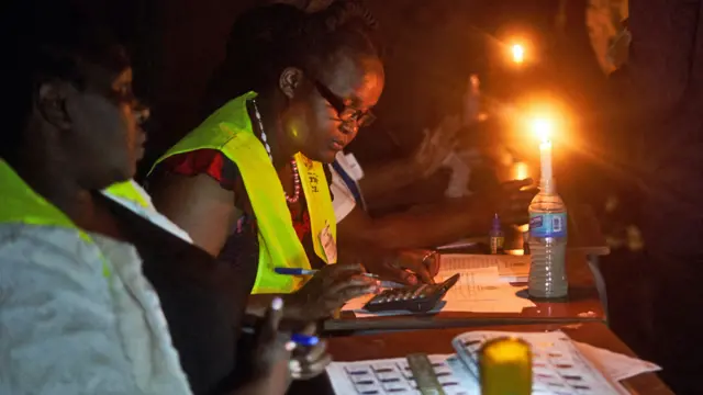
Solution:
[[[460,128],[459,116],[447,116],[432,132],[423,132],[424,138],[412,158],[413,166],[421,177],[429,177],[442,167],[456,145],[457,132]]]

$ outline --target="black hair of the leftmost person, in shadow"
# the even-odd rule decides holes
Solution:
[[[3,95],[0,158],[13,163],[25,146],[36,90],[43,82],[63,80],[85,88],[81,61],[110,59],[126,67],[118,40],[103,27],[99,8],[76,0],[8,0],[2,5]],[[119,52],[119,50],[118,50]]]

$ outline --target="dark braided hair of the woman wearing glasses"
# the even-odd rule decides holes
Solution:
[[[203,115],[247,91],[271,89],[287,67],[316,72],[341,49],[380,57],[377,29],[359,0],[338,0],[312,13],[281,3],[252,9],[230,32]]]

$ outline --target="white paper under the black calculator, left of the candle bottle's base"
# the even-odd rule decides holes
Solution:
[[[517,292],[524,287],[511,286],[500,281],[498,267],[488,266],[475,269],[440,270],[436,282],[443,282],[451,275],[460,273],[459,281],[444,296],[444,304],[438,304],[431,313],[436,312],[473,312],[473,313],[520,313],[524,307],[535,306],[529,300],[518,297]],[[405,311],[369,313],[364,305],[372,295],[361,296],[347,303],[343,311],[352,311],[361,317],[394,316],[411,314]]]

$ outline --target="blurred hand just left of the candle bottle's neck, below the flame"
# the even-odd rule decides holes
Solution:
[[[503,223],[523,225],[529,222],[529,203],[538,192],[532,184],[532,179],[503,182],[498,191],[487,196]]]

